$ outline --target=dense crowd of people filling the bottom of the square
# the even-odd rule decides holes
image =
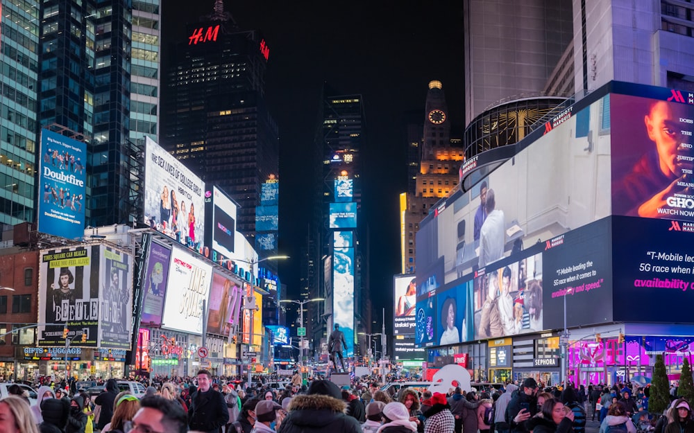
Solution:
[[[117,381],[92,398],[74,384],[45,384],[36,405],[22,387],[0,400],[0,432],[11,433],[694,433],[689,403],[675,398],[663,416],[648,412],[648,388],[622,384],[543,387],[533,378],[496,389],[448,394],[403,387],[382,391],[365,378],[338,387],[301,374],[277,389],[262,381],[156,377],[142,398]]]

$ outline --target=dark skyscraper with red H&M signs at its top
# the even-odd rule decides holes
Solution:
[[[239,30],[221,0],[187,29],[169,62],[162,145],[233,197],[240,205],[238,230],[261,258],[272,256],[277,206],[257,215],[262,184],[278,182],[278,127],[264,99],[269,45],[257,30]],[[257,231],[265,235],[260,245]]]

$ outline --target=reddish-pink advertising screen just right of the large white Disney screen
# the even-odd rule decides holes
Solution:
[[[229,335],[232,325],[239,323],[242,303],[241,285],[220,272],[213,272],[208,301],[208,333]]]

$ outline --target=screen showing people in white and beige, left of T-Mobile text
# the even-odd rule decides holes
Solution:
[[[474,279],[475,339],[543,330],[543,256],[536,254]]]

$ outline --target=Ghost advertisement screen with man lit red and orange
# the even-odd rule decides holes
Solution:
[[[694,106],[616,94],[610,103],[612,213],[694,221]]]

